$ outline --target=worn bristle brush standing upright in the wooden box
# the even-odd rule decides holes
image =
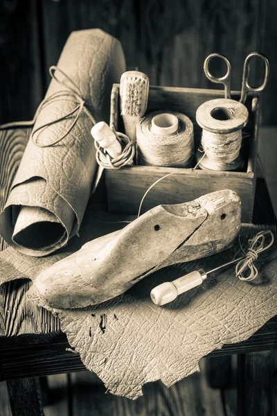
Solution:
[[[148,105],[149,78],[139,71],[124,72],[120,78],[120,110],[125,135],[136,141],[136,123]]]

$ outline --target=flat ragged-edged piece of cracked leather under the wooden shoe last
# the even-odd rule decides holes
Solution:
[[[33,279],[55,261],[86,242],[125,225],[116,216],[89,207],[80,238],[49,257],[26,257],[13,248],[0,254],[0,283],[19,277]],[[123,222],[121,222],[123,221]],[[256,227],[242,227],[242,245]],[[199,288],[165,306],[150,300],[150,291],[198,268],[209,270],[240,255],[240,247],[213,257],[158,270],[129,291],[85,310],[57,310],[62,331],[88,370],[96,372],[114,395],[136,399],[142,385],[161,379],[167,386],[198,370],[198,362],[213,349],[246,340],[276,315],[277,245],[260,254],[258,281],[238,280],[234,268],[215,272]],[[259,283],[259,284],[258,284]],[[28,293],[27,293],[28,295]],[[37,299],[33,297],[33,301]],[[102,327],[106,315],[107,326]]]

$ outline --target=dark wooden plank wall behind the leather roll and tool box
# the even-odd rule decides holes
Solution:
[[[224,53],[240,89],[244,58],[269,57],[262,124],[276,124],[276,0],[1,0],[0,123],[31,119],[71,31],[102,28],[120,39],[128,67],[152,85],[217,87],[206,80],[204,58]],[[216,69],[216,68],[215,68]],[[251,79],[261,80],[253,62]]]

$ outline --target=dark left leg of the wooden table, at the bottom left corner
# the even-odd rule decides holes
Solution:
[[[39,379],[7,381],[12,416],[44,416]]]

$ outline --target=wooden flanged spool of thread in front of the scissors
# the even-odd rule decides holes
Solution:
[[[227,98],[217,98],[200,105],[196,121],[202,127],[203,152],[197,150],[202,169],[235,171],[244,165],[240,154],[242,128],[248,121],[245,105]]]

